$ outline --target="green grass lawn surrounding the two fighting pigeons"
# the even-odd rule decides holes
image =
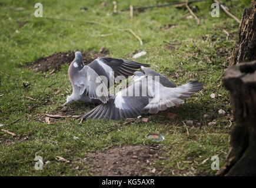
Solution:
[[[228,65],[239,24],[223,11],[220,11],[219,18],[212,18],[212,2],[196,4],[199,11],[195,14],[200,19],[200,25],[195,19],[187,19],[189,12],[186,9],[173,6],[135,11],[133,21],[129,19],[129,12],[120,12],[130,4],[154,5],[167,1],[118,1],[118,14],[112,13],[112,1],[105,1],[106,6],[101,6],[101,2],[41,1],[44,18],[35,18],[36,1],[1,1],[0,69],[18,80],[0,74],[0,93],[4,94],[0,97],[0,123],[4,125],[1,129],[17,135],[15,138],[0,132],[0,175],[86,176],[89,173],[86,166],[83,171],[75,169],[74,163],[78,159],[107,146],[151,145],[152,142],[145,139],[148,132],[158,132],[166,138],[161,144],[167,159],[155,162],[157,171],[161,171],[162,175],[215,174],[216,170],[211,170],[211,156],[218,155],[220,165],[224,163],[232,127],[229,127],[227,116],[218,115],[218,109],[224,109],[231,116],[228,92],[221,85],[221,78]],[[232,14],[241,19],[244,8],[248,8],[251,1],[223,2]],[[15,11],[18,7],[23,7],[24,11]],[[82,12],[81,7],[88,10]],[[16,21],[26,24],[20,28]],[[110,28],[84,21],[101,22]],[[175,27],[168,28],[168,24]],[[132,29],[144,45],[141,46],[131,33],[117,30],[124,28]],[[223,29],[230,33],[228,39]],[[108,33],[113,35],[99,36]],[[163,41],[181,44],[172,49]],[[147,55],[137,59],[139,62],[149,63],[151,68],[168,76],[177,85],[199,80],[204,83],[204,90],[187,99],[178,109],[167,110],[177,113],[175,120],[165,117],[167,112],[160,112],[152,116],[148,123],[123,127],[117,127],[117,123],[124,120],[88,120],[81,125],[78,125],[78,120],[68,118],[52,125],[40,122],[38,116],[44,113],[59,113],[67,95],[71,94],[68,66],[46,78],[44,74],[26,69],[26,62],[34,62],[55,52],[99,51],[102,46],[108,48],[109,56],[114,58],[131,59],[135,52],[147,51]],[[207,62],[205,56],[211,59],[212,64]],[[22,80],[31,85],[24,88]],[[57,90],[60,90],[59,94],[54,95]],[[217,97],[210,98],[211,93],[216,93]],[[29,110],[31,106],[34,106],[33,110]],[[68,106],[68,110],[71,109],[77,110],[79,115],[91,108],[75,102]],[[204,114],[209,115],[207,120],[203,118]],[[21,120],[9,125],[18,118]],[[209,126],[208,122],[214,119],[217,125]],[[182,123],[186,120],[194,120],[194,125],[187,125],[189,136]],[[201,126],[196,126],[196,122],[201,122]],[[74,136],[79,139],[75,140]],[[24,140],[24,137],[28,139]],[[4,140],[7,139],[13,143],[6,144]],[[44,170],[35,170],[35,155],[51,163]],[[70,163],[59,162],[56,156],[62,156]]]

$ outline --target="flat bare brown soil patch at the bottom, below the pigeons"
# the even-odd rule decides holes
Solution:
[[[164,159],[161,146],[120,146],[90,153],[84,162],[89,171],[97,176],[159,176],[155,159]]]

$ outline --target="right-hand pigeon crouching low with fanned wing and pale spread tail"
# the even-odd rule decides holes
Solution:
[[[145,92],[145,83],[147,92]],[[144,88],[144,89],[143,89]],[[177,88],[167,88],[155,80],[148,80],[142,72],[134,72],[134,82],[127,89],[121,90],[109,98],[107,103],[101,103],[81,119],[121,119],[138,117],[142,113],[157,113],[171,106],[184,103],[184,98],[189,98],[203,88],[198,81],[189,82]],[[133,95],[129,95],[132,93]],[[139,93],[139,95],[134,95]],[[144,94],[143,94],[144,93]]]

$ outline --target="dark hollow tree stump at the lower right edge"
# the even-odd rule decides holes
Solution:
[[[218,176],[256,176],[256,61],[227,69],[222,82],[230,91],[235,125],[230,150]]]

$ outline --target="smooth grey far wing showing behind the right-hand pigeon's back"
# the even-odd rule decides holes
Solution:
[[[159,76],[159,83],[161,83],[161,85],[167,88],[176,88],[175,83],[171,82],[171,80],[166,78],[164,75],[161,75],[157,71],[146,68],[145,66],[141,66],[141,70],[145,73],[145,75],[152,76],[152,80],[155,80],[155,76]]]

